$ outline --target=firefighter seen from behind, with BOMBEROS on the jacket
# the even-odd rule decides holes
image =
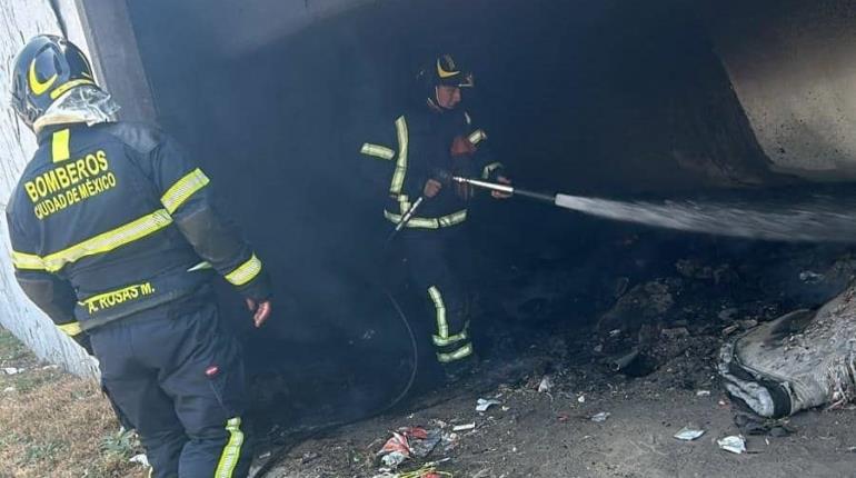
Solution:
[[[258,327],[270,313],[261,261],[172,139],[111,121],[118,107],[77,47],[39,36],[13,68],[12,106],[39,145],[7,208],[18,282],[98,358],[152,476],[246,476],[243,364],[210,280],[233,285]]]

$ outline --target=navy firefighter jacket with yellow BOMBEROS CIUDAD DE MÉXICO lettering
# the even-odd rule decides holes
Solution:
[[[161,131],[50,127],[7,207],[23,291],[68,335],[189,296],[222,275],[268,297],[250,247],[211,207],[209,179]]]

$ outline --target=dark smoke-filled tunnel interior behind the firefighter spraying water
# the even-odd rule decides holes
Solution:
[[[269,327],[235,323],[253,374],[267,380],[260,401],[316,405],[288,414],[329,417],[348,402],[356,416],[407,378],[409,343],[381,287],[397,273],[386,259],[385,191],[369,181],[376,165],[366,165],[359,147],[391,127],[415,94],[415,73],[438,52],[476,72],[466,108],[516,183],[620,197],[773,180],[686,2],[369,2],[225,51],[223,38],[240,44],[251,33],[230,23],[230,11],[272,3],[128,7],[160,125],[209,172],[220,207],[275,279]],[[758,247],[685,240],[517,200],[477,198],[472,209],[467,232],[484,303],[476,333],[486,356],[507,348],[496,330],[526,338],[590,325],[603,308],[595,289],[608,288],[604,269],[634,277],[673,267],[687,248],[729,255]],[[639,235],[653,239],[627,239]],[[609,252],[628,241],[635,246],[626,255]],[[573,297],[549,311],[517,300],[531,271],[554,273]],[[421,305],[407,292],[394,290],[421,342]],[[223,296],[230,317],[247,316],[236,297]],[[281,389],[270,386],[277,380]]]

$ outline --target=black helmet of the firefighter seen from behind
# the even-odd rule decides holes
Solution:
[[[97,86],[86,54],[61,37],[32,38],[13,64],[12,108],[30,128],[63,93]]]

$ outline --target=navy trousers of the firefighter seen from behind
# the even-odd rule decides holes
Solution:
[[[145,313],[90,335],[103,387],[137,428],[151,476],[246,477],[243,361],[213,298]]]

